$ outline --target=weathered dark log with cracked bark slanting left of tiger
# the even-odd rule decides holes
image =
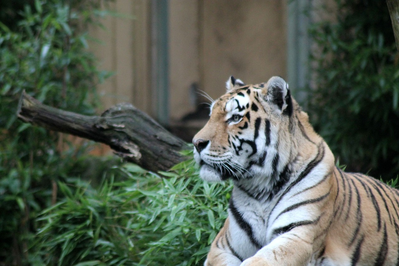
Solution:
[[[17,114],[24,122],[105,143],[126,161],[150,171],[169,170],[188,159],[180,151],[191,149],[130,103],[87,116],[44,105],[24,91]]]

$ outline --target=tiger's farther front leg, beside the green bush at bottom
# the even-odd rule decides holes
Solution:
[[[228,233],[229,218],[213,240],[205,260],[205,266],[239,266],[243,261],[231,247],[231,236]]]

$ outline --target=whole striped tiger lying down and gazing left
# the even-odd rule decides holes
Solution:
[[[232,180],[205,266],[399,265],[399,192],[336,166],[279,76],[231,76],[194,136],[207,182]]]

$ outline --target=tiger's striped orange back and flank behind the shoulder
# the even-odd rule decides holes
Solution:
[[[399,265],[398,191],[340,169],[334,179],[341,191],[320,261],[330,257],[336,264],[326,265]]]

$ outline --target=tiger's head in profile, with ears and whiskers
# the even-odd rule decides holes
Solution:
[[[292,117],[306,115],[292,99],[288,84],[272,77],[267,83],[244,85],[231,76],[226,88],[227,93],[211,104],[209,121],[193,139],[201,178],[273,179],[287,171],[295,149]]]

